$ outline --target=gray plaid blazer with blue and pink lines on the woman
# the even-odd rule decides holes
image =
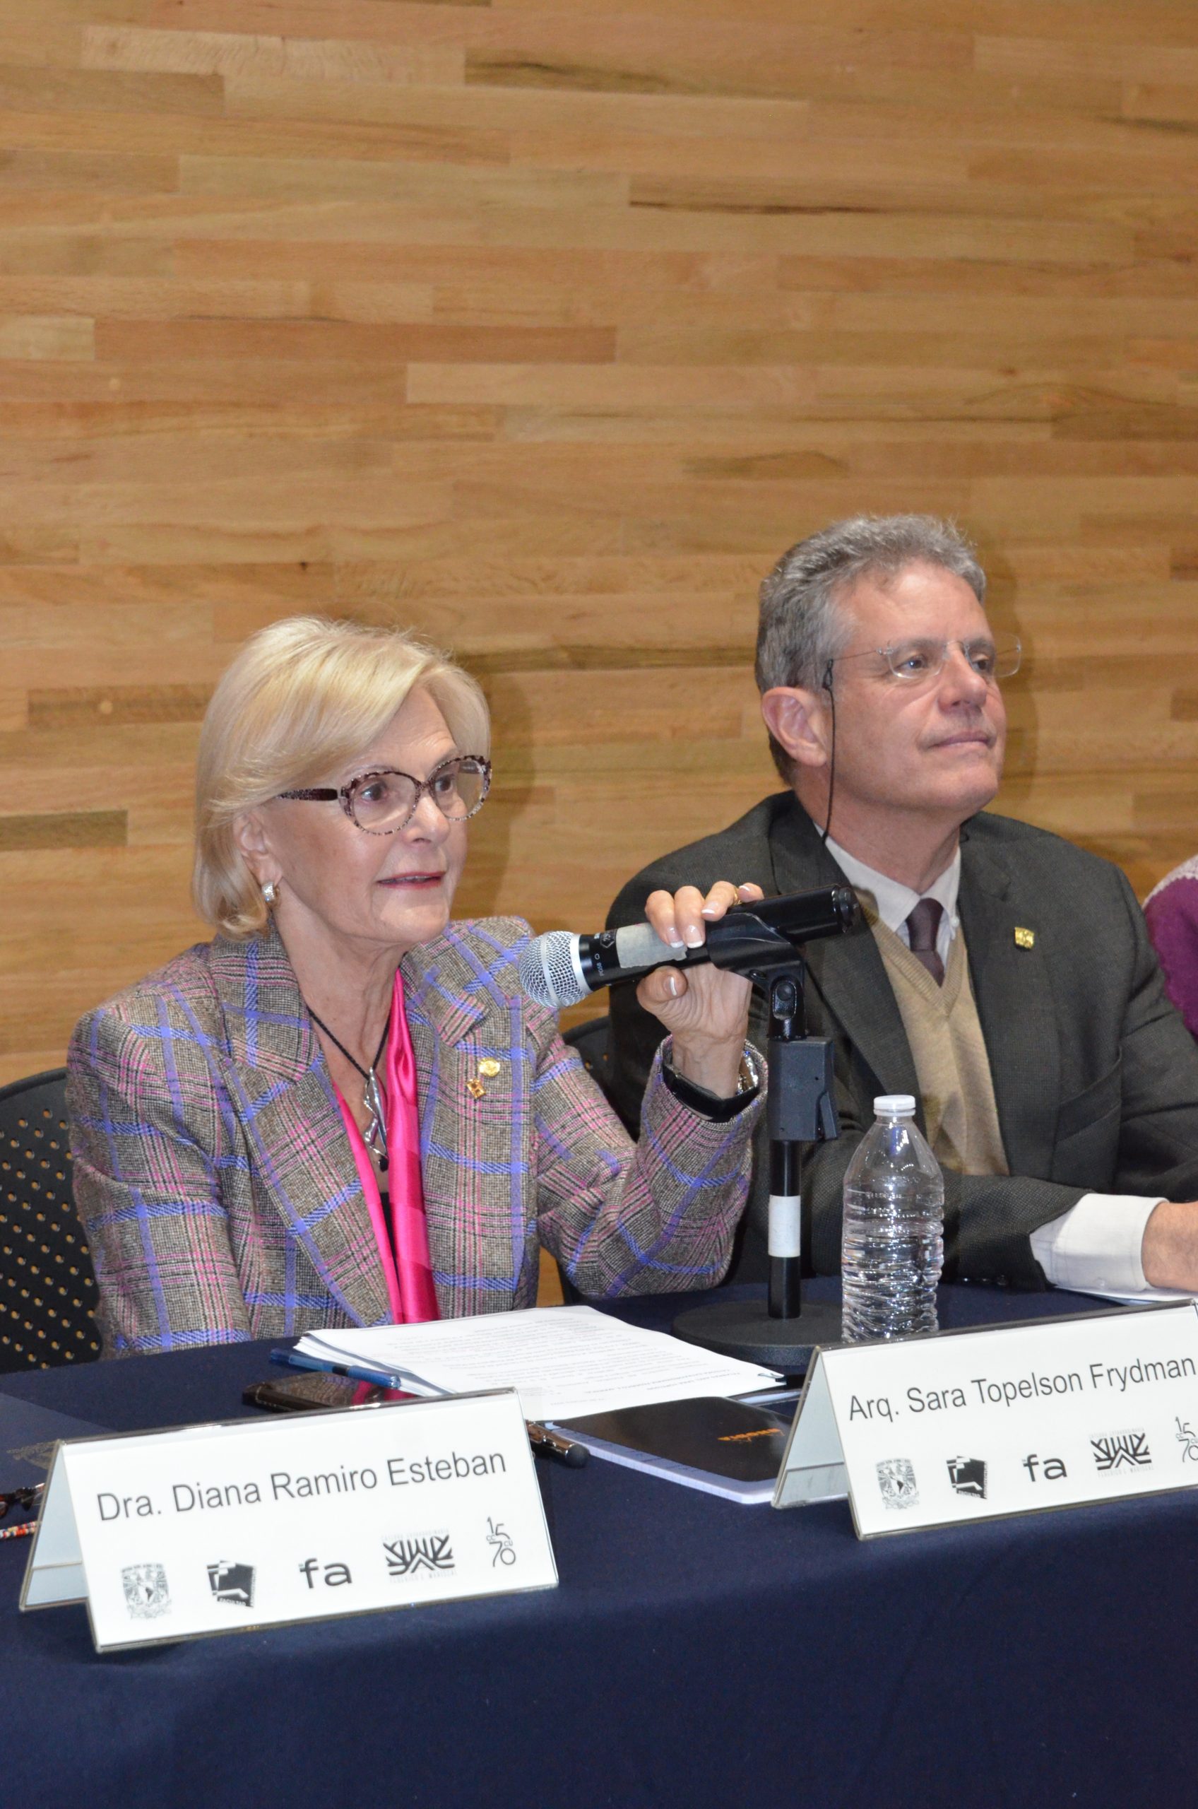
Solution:
[[[729,1123],[653,1071],[632,1143],[532,1004],[514,917],[404,957],[442,1315],[532,1306],[537,1245],[590,1295],[717,1283],[760,1100]],[[481,1098],[481,1056],[499,1062]],[[105,1355],[371,1326],[387,1292],[349,1138],[279,935],[217,937],[90,1011],[67,1100]]]

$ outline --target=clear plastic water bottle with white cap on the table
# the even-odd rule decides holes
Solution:
[[[841,1337],[936,1331],[945,1263],[945,1178],[916,1123],[910,1093],[874,1100],[878,1114],[845,1170]]]

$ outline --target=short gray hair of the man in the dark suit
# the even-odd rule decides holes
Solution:
[[[849,644],[840,602],[858,579],[896,579],[907,566],[943,566],[965,579],[981,604],[986,573],[974,546],[952,521],[936,516],[849,516],[798,541],[762,581],[756,628],[756,687],[802,686],[816,691],[829,660]],[[769,753],[791,783],[793,762],[769,736]]]

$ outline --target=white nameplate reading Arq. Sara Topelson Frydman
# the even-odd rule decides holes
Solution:
[[[1198,1483],[1198,1306],[816,1351],[775,1507],[858,1538]]]

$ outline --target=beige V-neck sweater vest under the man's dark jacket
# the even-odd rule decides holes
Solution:
[[[916,1062],[936,1160],[957,1174],[1008,1174],[963,932],[952,939],[937,986],[907,942],[874,912],[869,917]]]

